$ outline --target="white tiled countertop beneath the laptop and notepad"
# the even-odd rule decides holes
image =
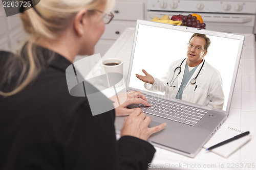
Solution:
[[[122,59],[124,61],[123,76],[125,80],[130,64],[134,32],[134,28],[127,28],[102,57]],[[168,164],[168,167],[174,167],[174,169],[210,169],[209,167],[212,167],[212,169],[256,169],[255,37],[253,34],[244,35],[245,42],[231,109],[227,120],[220,129],[230,126],[242,131],[250,131],[251,140],[228,158],[223,158],[212,152],[206,152],[205,149],[202,149],[195,158],[189,158],[155,147],[157,152],[152,161],[154,167],[161,167],[162,165],[162,169],[167,169],[163,165]]]

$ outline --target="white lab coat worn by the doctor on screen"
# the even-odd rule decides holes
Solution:
[[[154,78],[155,83],[153,85],[145,83],[145,88],[151,91],[165,92],[166,98],[175,99],[183,79],[185,63],[187,60],[182,63],[180,75],[176,78],[172,85],[175,87],[170,87],[167,85],[167,83],[170,85],[170,81],[174,75],[174,70],[176,67],[180,66],[182,60],[183,59],[173,62],[170,65],[166,76],[161,80]],[[190,80],[197,76],[202,64],[203,62],[199,64]],[[174,78],[178,75],[178,72],[179,71],[176,70]],[[222,79],[220,72],[217,69],[205,62],[202,70],[200,71],[200,74],[196,79],[196,83],[191,84],[190,80],[184,88],[182,100],[216,109],[223,108],[224,93],[222,88]]]

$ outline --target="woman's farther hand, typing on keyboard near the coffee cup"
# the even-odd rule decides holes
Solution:
[[[114,100],[115,99],[115,100]],[[134,91],[132,90],[131,93],[121,93],[118,94],[118,100],[121,104],[117,102],[116,96],[113,96],[111,98],[112,101],[114,101],[116,116],[125,116],[131,114],[134,109],[128,109],[127,106],[132,104],[143,104],[145,106],[151,106],[150,103],[147,102],[146,97],[140,92],[140,91]]]

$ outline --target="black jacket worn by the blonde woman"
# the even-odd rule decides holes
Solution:
[[[0,52],[0,79],[7,56]],[[132,136],[116,141],[115,111],[92,116],[86,97],[69,94],[70,64],[56,54],[24,90],[0,96],[0,169],[146,169],[154,147]]]

